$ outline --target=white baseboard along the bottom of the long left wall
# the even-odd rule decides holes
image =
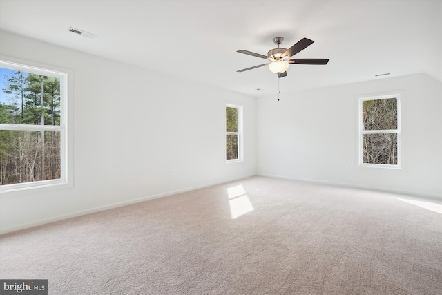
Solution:
[[[117,202],[114,204],[109,204],[106,206],[101,206],[101,207],[95,207],[92,209],[88,209],[88,210],[83,210],[83,211],[77,211],[74,213],[70,213],[70,214],[64,214],[64,215],[60,215],[60,216],[55,216],[55,217],[51,217],[51,218],[45,218],[45,219],[41,219],[41,220],[36,220],[34,222],[28,222],[22,225],[17,225],[14,227],[6,227],[4,229],[1,229],[0,234],[7,234],[10,233],[12,231],[20,231],[22,229],[30,229],[32,227],[38,227],[39,225],[46,225],[48,223],[52,223],[52,222],[57,222],[57,221],[61,221],[61,220],[66,220],[66,219],[70,219],[70,218],[75,218],[75,217],[79,217],[79,216],[84,216],[87,214],[91,214],[91,213],[97,213],[100,211],[106,211],[106,210],[110,210],[110,209],[115,209],[118,207],[124,207],[130,204],[135,204],[135,203],[139,203],[139,202],[144,202],[144,201],[148,201],[148,200],[153,200],[153,199],[157,199],[157,198],[164,198],[167,196],[173,196],[176,195],[177,193],[185,193],[186,191],[194,191],[195,189],[202,189],[204,187],[211,187],[213,185],[217,185],[217,184],[223,184],[223,183],[228,183],[231,181],[236,181],[236,180],[242,180],[245,178],[250,178],[252,176],[255,176],[256,174],[252,173],[249,175],[242,175],[238,178],[231,178],[231,179],[227,179],[227,180],[222,180],[219,182],[212,182],[212,183],[208,183],[208,184],[202,184],[202,185],[198,185],[196,187],[188,187],[186,189],[178,189],[176,191],[168,191],[166,193],[159,193],[157,195],[152,195],[152,196],[146,196],[143,198],[137,198],[135,200],[129,200],[126,202]]]

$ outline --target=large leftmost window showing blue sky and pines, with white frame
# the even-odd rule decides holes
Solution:
[[[66,184],[68,74],[0,61],[0,191]]]

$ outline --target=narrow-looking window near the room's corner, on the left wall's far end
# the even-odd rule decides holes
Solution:
[[[226,105],[226,160],[242,160],[242,106]]]

